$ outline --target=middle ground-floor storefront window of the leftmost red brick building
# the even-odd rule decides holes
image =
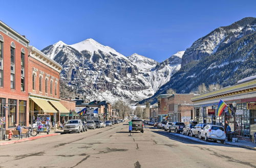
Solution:
[[[17,100],[8,99],[8,127],[15,127],[17,116]]]

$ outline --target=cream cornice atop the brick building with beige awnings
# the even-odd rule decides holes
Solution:
[[[34,46],[29,46],[29,50],[30,50],[29,57],[32,57],[32,58],[38,60],[42,64],[45,64],[48,67],[50,67],[60,73],[62,66],[59,65],[56,61],[49,58],[46,54],[44,54],[43,52],[41,52]]]

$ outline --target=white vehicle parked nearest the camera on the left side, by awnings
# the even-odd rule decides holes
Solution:
[[[63,132],[83,132],[83,124],[81,120],[68,120],[64,127],[63,127]]]

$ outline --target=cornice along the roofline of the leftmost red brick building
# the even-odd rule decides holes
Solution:
[[[29,40],[0,20],[0,31],[28,48]]]

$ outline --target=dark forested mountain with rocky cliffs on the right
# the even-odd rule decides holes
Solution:
[[[202,83],[206,86],[218,83],[227,87],[256,75],[255,20],[244,18],[194,42],[185,51],[180,70],[153,97],[140,103],[154,103],[158,95],[165,94],[170,88],[177,93],[190,93]]]

